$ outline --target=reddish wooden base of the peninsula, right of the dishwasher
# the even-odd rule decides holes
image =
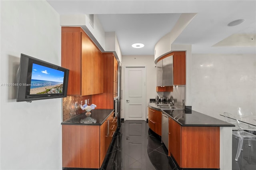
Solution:
[[[220,168],[220,127],[184,127],[169,118],[168,152],[180,168]]]

